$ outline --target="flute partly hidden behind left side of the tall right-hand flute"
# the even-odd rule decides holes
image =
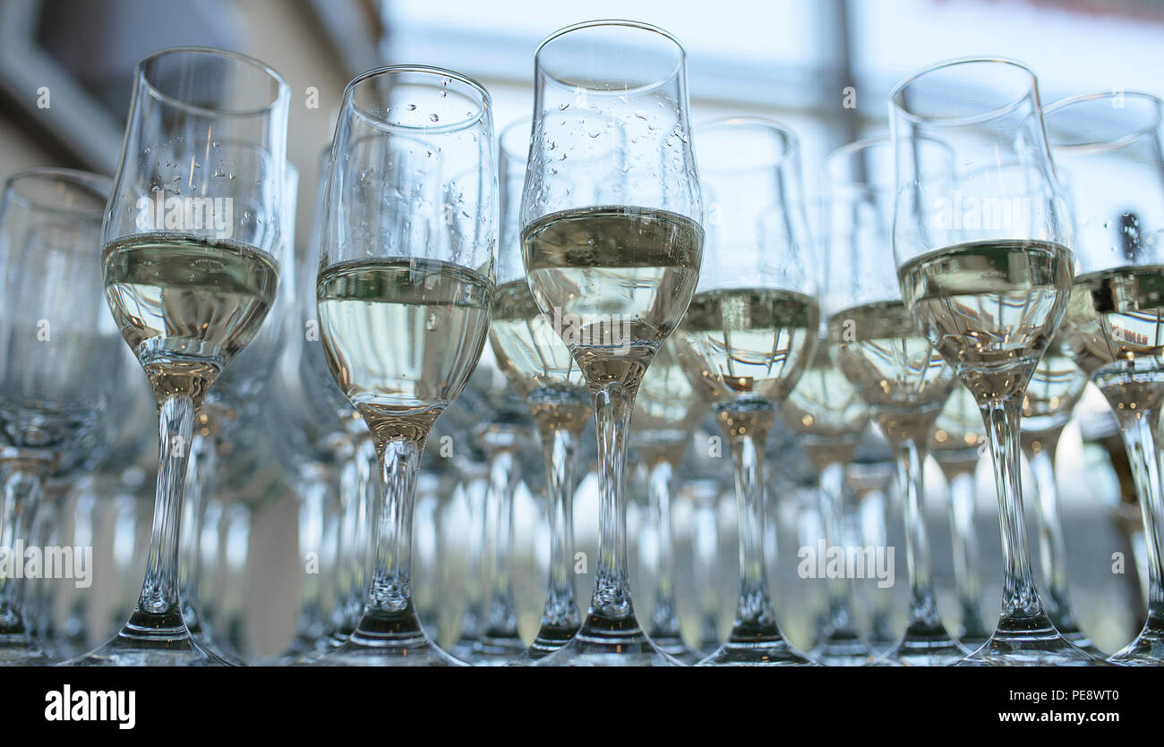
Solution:
[[[952,152],[917,138],[935,171],[953,172]],[[892,241],[894,143],[888,137],[850,143],[826,159],[830,261],[837,269],[825,290],[829,344],[842,374],[870,407],[897,463],[906,514],[909,614],[897,646],[874,663],[943,666],[966,650],[938,611],[925,525],[925,446],[956,384],[953,369],[915,332],[894,266]]]

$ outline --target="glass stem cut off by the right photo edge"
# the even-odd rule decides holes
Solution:
[[[1148,559],[1148,622],[1144,629],[1164,632],[1164,493],[1161,492],[1158,410],[1116,410],[1140,497]]]

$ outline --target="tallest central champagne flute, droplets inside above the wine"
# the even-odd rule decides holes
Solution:
[[[523,259],[538,308],[590,390],[602,491],[590,609],[538,664],[676,663],[631,603],[626,436],[639,383],[687,311],[703,254],[684,57],[673,36],[633,21],[568,27],[534,56]]]

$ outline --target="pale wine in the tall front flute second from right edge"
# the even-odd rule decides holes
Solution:
[[[906,306],[980,401],[1018,394],[1058,328],[1071,252],[1036,240],[975,241],[899,270]]]

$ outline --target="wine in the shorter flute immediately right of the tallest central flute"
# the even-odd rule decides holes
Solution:
[[[816,347],[821,312],[795,291],[731,289],[691,299],[680,357],[712,403],[755,398],[780,405]]]

